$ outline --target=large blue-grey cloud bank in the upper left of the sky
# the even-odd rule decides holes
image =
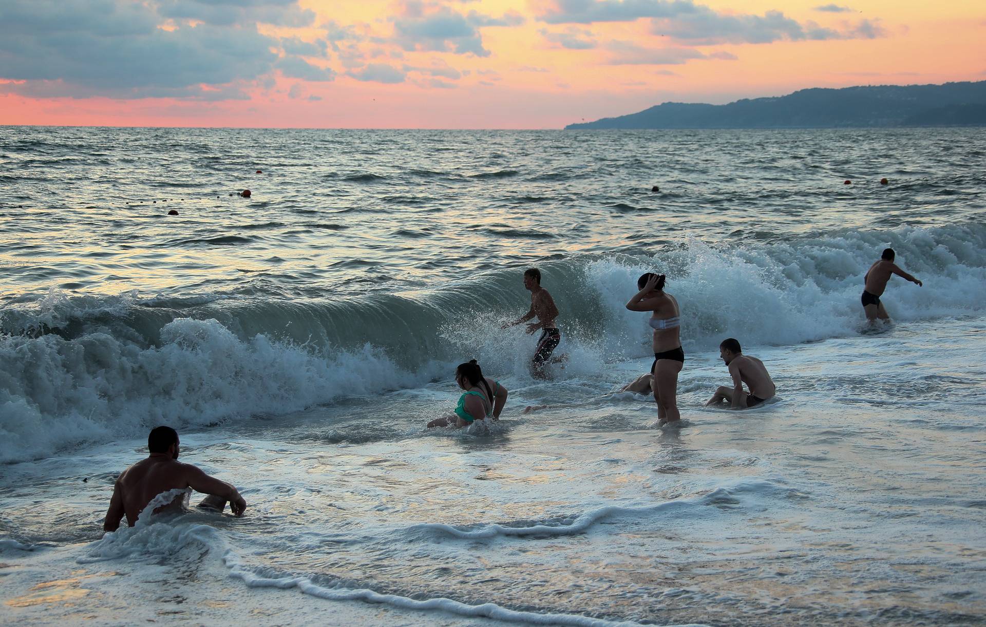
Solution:
[[[334,76],[298,58],[304,42],[285,45],[254,22],[226,26],[163,15],[203,7],[271,20],[278,10],[298,9],[297,0],[3,0],[0,79],[18,81],[8,92],[35,98],[223,100],[244,98],[246,87],[277,69],[308,80]]]

